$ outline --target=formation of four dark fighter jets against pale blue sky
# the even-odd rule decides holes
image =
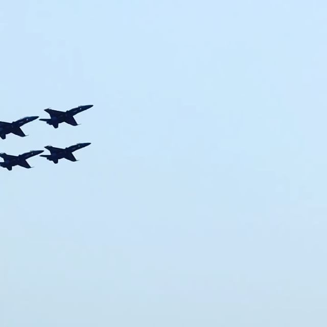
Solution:
[[[47,124],[53,126],[54,128],[58,128],[59,124],[61,123],[67,123],[72,126],[77,126],[77,122],[74,118],[74,115],[77,113],[87,110],[89,108],[93,107],[93,105],[85,105],[85,106],[78,106],[76,108],[67,110],[67,111],[59,111],[59,110],[53,110],[53,109],[44,109],[45,112],[48,112],[50,114],[49,119],[40,119],[40,121],[46,122]],[[6,139],[6,135],[13,133],[15,135],[18,135],[20,137],[27,136],[22,130],[21,127],[27,123],[33,122],[36,119],[38,119],[39,116],[29,116],[22,119],[19,119],[18,121],[12,122],[12,123],[6,123],[6,122],[0,122],[0,137],[2,139]],[[61,149],[61,148],[55,148],[52,146],[46,146],[44,147],[46,150],[49,150],[50,154],[42,154],[41,157],[44,157],[50,161],[53,161],[55,164],[58,164],[58,160],[60,159],[67,159],[71,161],[77,161],[76,158],[73,155],[73,152],[79,149],[82,149],[84,147],[87,147],[90,145],[90,143],[78,143],[76,145],[72,145],[70,147]],[[23,154],[20,154],[18,156],[15,155],[9,155],[7,153],[0,153],[0,157],[4,159],[3,162],[0,162],[0,166],[3,168],[7,168],[8,170],[12,170],[14,166],[21,166],[24,168],[32,168],[29,163],[27,162],[27,159],[36,156],[40,153],[44,152],[43,150],[37,150],[37,151],[30,151]]]

